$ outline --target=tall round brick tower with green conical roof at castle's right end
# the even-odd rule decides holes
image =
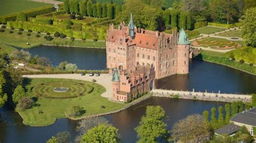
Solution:
[[[187,34],[181,29],[177,47],[177,74],[188,74],[190,41]]]

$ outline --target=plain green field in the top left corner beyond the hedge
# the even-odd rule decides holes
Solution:
[[[50,4],[32,2],[28,0],[1,0],[0,1],[0,16],[9,15],[11,13],[36,9]]]

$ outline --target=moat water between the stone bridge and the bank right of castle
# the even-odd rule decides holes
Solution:
[[[155,82],[156,88],[252,94],[256,76],[210,62],[190,60],[188,75],[173,75]]]

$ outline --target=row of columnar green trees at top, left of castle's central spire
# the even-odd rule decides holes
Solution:
[[[120,14],[121,7],[116,3],[100,3],[92,0],[65,0],[64,10],[81,16],[98,18],[115,18]]]

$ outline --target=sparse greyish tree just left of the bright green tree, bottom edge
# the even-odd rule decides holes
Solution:
[[[108,124],[109,121],[104,117],[90,117],[78,122],[76,131],[79,132],[79,135],[75,138],[76,142],[80,142],[83,134],[86,134],[88,130],[93,127],[96,127],[100,124]]]

